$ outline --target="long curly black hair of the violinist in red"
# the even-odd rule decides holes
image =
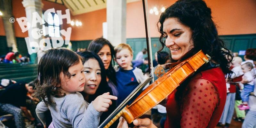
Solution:
[[[220,64],[224,74],[230,75],[232,71],[229,70],[228,63],[232,61],[232,55],[219,38],[211,13],[211,9],[203,0],[178,0],[160,16],[157,24],[158,31],[161,33],[159,41],[163,49],[165,45],[163,23],[165,19],[177,18],[181,24],[192,30],[195,52],[202,49],[205,54],[212,57],[212,60]]]

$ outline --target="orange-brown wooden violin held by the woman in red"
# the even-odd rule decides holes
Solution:
[[[135,89],[136,91],[133,91],[98,128],[110,127],[120,116],[123,116],[127,123],[132,123],[133,120],[145,114],[174,92],[186,78],[195,73],[202,65],[208,63],[210,59],[211,57],[209,55],[205,55],[202,50],[200,50],[195,55],[181,62],[159,66],[155,69],[155,74],[156,76],[162,76],[150,84],[131,104],[129,104],[128,102],[132,100],[132,97],[143,87],[140,84]],[[171,69],[164,73],[164,70],[168,68]],[[151,79],[148,78],[145,82],[149,82],[150,80]],[[145,84],[145,82],[142,84]]]

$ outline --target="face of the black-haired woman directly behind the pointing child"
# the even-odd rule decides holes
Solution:
[[[95,59],[89,59],[84,63],[85,85],[84,92],[86,94],[94,94],[101,81],[101,71],[99,62]]]

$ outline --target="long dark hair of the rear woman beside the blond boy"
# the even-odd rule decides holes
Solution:
[[[110,42],[107,39],[97,38],[97,39],[94,39],[89,44],[88,50],[97,54],[98,52],[100,52],[102,47],[104,47],[105,45],[109,46],[110,52],[111,52],[111,57],[112,57],[110,65],[109,65],[108,69],[106,69],[106,75],[116,85],[116,71],[113,68],[114,63],[112,64],[112,62],[114,62],[115,51],[114,51],[114,47],[112,46],[112,44],[110,44]]]

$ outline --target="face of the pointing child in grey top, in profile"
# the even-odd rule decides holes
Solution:
[[[73,93],[82,92],[84,90],[84,67],[82,61],[79,60],[78,64],[72,65],[68,68],[71,77],[64,76],[63,72],[60,73],[60,89]]]

